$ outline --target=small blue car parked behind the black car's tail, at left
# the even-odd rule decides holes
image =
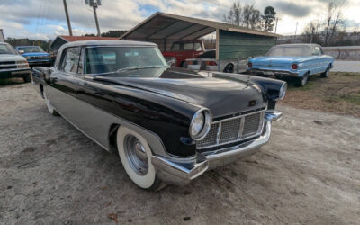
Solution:
[[[40,46],[17,46],[16,50],[28,60],[30,67],[49,67],[52,64],[50,54]]]

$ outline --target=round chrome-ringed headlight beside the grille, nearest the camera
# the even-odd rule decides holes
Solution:
[[[193,115],[189,133],[194,140],[205,138],[211,128],[212,116],[208,109],[201,109]]]

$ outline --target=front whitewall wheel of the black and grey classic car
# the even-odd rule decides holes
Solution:
[[[152,152],[146,139],[121,126],[116,143],[122,166],[133,183],[146,190],[159,190],[163,187],[151,163]]]

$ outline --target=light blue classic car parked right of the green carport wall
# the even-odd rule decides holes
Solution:
[[[324,55],[320,45],[285,44],[271,48],[266,57],[250,59],[247,71],[279,78],[293,76],[297,78],[297,84],[303,86],[311,75],[328,77],[333,65],[334,58]]]

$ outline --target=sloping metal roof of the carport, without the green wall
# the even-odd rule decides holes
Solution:
[[[124,33],[120,39],[125,40],[196,40],[217,29],[260,36],[281,37],[281,35],[248,29],[229,23],[208,21],[176,14],[157,12],[145,21],[139,23],[130,31]]]

